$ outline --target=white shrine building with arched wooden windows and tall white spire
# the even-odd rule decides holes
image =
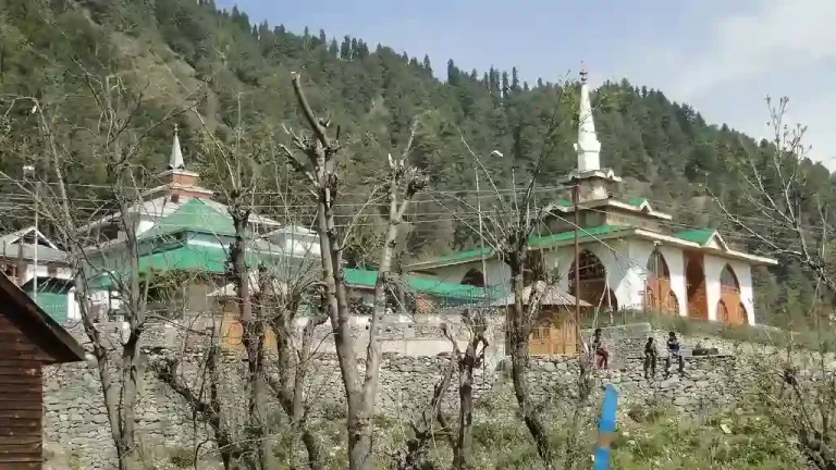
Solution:
[[[617,200],[620,178],[601,168],[586,73],[581,72],[578,168],[562,183],[577,185],[578,297],[613,310],[648,310],[730,324],[755,324],[752,267],[777,261],[735,249],[713,228],[676,230],[673,217],[647,199]],[[576,294],[575,205],[553,201],[529,243],[558,288]],[[484,261],[483,261],[484,260]],[[484,270],[482,267],[485,267]],[[413,263],[416,274],[511,290],[508,267],[490,248]],[[487,271],[487,272],[483,272]]]

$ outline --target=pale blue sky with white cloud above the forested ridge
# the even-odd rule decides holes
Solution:
[[[810,157],[836,169],[836,0],[216,0],[329,37],[362,38],[480,72],[560,81],[585,61],[593,84],[628,78],[709,122],[769,137],[763,98],[790,97]]]

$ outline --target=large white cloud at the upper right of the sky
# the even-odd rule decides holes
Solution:
[[[836,1],[757,0],[743,12],[716,11],[701,37],[659,38],[626,75],[755,138],[771,135],[762,98],[787,95],[785,121],[807,125],[810,157],[836,170]]]

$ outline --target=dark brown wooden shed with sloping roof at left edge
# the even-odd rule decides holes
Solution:
[[[44,461],[41,368],[84,360],[84,349],[5,274],[0,274],[0,468]]]

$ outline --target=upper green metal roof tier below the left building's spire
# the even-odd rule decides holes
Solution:
[[[197,232],[219,236],[235,236],[232,218],[219,212],[198,198],[189,199],[157,225],[139,234],[140,239],[159,238],[179,232]]]

